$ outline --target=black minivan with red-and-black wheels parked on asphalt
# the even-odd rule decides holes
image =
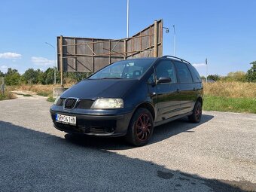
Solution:
[[[189,62],[175,56],[114,62],[73,85],[50,114],[56,129],[90,136],[125,136],[142,146],[154,126],[187,116],[200,122],[203,84]]]

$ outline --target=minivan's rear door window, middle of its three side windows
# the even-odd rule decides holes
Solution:
[[[175,67],[177,69],[178,72],[178,78],[182,83],[192,83],[192,77],[190,74],[190,71],[187,68],[187,65],[184,62],[174,62],[175,63]]]

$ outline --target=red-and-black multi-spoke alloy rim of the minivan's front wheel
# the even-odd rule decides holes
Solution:
[[[146,141],[151,133],[151,119],[148,114],[142,114],[136,121],[136,135],[142,142]]]

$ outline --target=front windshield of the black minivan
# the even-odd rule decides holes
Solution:
[[[154,62],[154,59],[128,59],[114,62],[96,72],[89,79],[131,79],[140,78]]]

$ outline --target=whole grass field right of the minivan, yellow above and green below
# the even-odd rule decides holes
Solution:
[[[256,113],[256,83],[223,82],[204,84],[203,110]]]

